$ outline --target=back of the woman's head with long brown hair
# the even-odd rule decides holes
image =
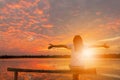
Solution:
[[[80,50],[83,47],[83,40],[80,35],[75,35],[73,38],[75,50]]]

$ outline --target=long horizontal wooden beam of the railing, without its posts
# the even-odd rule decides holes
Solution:
[[[36,69],[20,69],[20,68],[8,68],[8,71],[17,71],[17,72],[38,72],[38,73],[67,73],[72,74],[75,73],[71,70],[36,70]],[[96,74],[96,70],[87,69],[87,70],[78,70],[78,74]]]

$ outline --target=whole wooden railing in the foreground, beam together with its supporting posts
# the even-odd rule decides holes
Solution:
[[[64,74],[74,74],[71,70],[37,70],[37,69],[20,69],[20,68],[8,68],[8,71],[14,72],[14,80],[18,80],[19,72],[37,72],[37,73],[64,73]],[[96,69],[82,69],[77,71],[77,76],[73,76],[73,80],[78,80],[79,74],[96,74]],[[77,77],[77,79],[76,79]]]

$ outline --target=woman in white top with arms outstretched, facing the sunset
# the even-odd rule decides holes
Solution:
[[[73,71],[73,80],[79,80],[78,76],[79,74],[77,73],[79,70],[82,70],[84,66],[84,62],[80,59],[82,57],[82,51],[84,48],[83,40],[80,35],[75,35],[73,38],[73,45],[53,45],[50,44],[48,49],[51,49],[53,47],[57,48],[67,48],[72,51],[71,54],[71,62],[70,62],[70,69]],[[94,45],[91,47],[105,47],[108,48],[107,45]]]

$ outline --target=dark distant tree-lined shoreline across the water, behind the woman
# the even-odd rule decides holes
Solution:
[[[1,55],[0,59],[19,59],[19,58],[70,58],[70,55]],[[97,58],[120,58],[120,54],[97,55]]]

